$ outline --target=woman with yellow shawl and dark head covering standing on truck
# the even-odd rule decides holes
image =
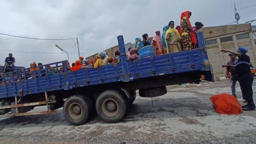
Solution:
[[[170,21],[169,23],[169,29],[165,33],[165,42],[167,53],[181,51],[181,37],[179,32],[174,29],[174,21]]]

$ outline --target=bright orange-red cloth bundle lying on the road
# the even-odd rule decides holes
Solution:
[[[214,95],[210,99],[217,113],[227,115],[238,115],[243,113],[242,106],[233,95],[223,93]]]

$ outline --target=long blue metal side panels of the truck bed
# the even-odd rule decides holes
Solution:
[[[28,75],[29,69],[10,72],[10,83],[0,85],[0,99],[15,96],[25,96],[55,90],[70,90],[75,87],[89,85],[110,84],[114,82],[131,82],[143,78],[157,77],[162,75],[172,75],[190,71],[204,73],[205,80],[213,81],[210,63],[205,48],[197,48],[177,53],[153,56],[137,59],[134,61],[124,61],[118,64],[109,64],[98,67],[98,69],[88,68],[78,71],[68,71],[66,61],[56,62],[54,65],[57,71],[50,75],[50,72]],[[43,65],[44,69],[48,65]],[[60,67],[64,67],[60,70]],[[45,74],[45,76],[41,76]],[[17,78],[15,79],[15,75]],[[27,77],[32,77],[27,79]]]

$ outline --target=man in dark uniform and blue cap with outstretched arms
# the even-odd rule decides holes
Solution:
[[[220,52],[226,53],[229,52],[233,55],[238,56],[237,64],[234,65],[223,65],[222,67],[233,67],[236,68],[237,80],[240,83],[240,88],[242,95],[245,100],[248,102],[246,105],[242,106],[243,110],[255,110],[255,105],[252,98],[252,83],[253,83],[253,74],[250,70],[250,57],[246,55],[248,50],[246,48],[238,48],[237,52],[232,52],[229,50],[221,50]]]

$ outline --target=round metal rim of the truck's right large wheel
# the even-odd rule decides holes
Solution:
[[[103,101],[102,110],[106,115],[114,116],[119,110],[119,105],[114,99],[108,98]]]

